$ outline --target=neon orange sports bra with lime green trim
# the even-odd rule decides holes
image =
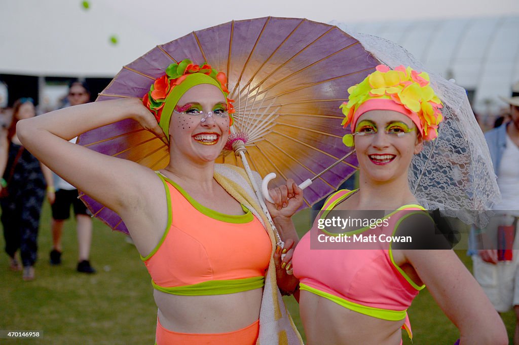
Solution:
[[[218,213],[178,184],[164,183],[168,225],[159,244],[141,259],[155,289],[173,295],[223,295],[262,287],[272,245],[251,211]]]

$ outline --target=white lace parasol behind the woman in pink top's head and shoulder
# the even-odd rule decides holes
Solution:
[[[391,68],[409,65],[429,73],[431,86],[444,102],[444,121],[438,138],[424,142],[424,150],[413,158],[409,185],[427,209],[465,223],[484,225],[488,211],[501,194],[483,133],[477,125],[465,89],[427,70],[409,52],[387,39],[348,32]]]

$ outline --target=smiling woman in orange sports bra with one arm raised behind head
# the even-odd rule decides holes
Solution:
[[[214,162],[233,124],[226,76],[189,60],[165,70],[142,100],[20,121],[20,140],[125,222],[152,276],[158,345],[300,344],[276,285],[272,229],[244,171]],[[165,169],[68,142],[125,118],[169,142]]]

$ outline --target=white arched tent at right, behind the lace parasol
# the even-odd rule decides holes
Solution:
[[[519,81],[519,16],[331,24],[404,47],[431,71],[474,92],[476,112],[506,106],[498,96],[509,97]]]

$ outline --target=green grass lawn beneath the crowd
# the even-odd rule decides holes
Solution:
[[[308,230],[309,211],[295,217],[300,234]],[[0,344],[153,344],[157,309],[150,277],[134,246],[121,233],[94,220],[91,262],[98,273],[79,274],[75,223],[65,223],[63,263],[51,267],[50,208],[46,203],[38,237],[36,280],[24,282],[21,272],[11,272],[8,257],[0,254],[0,330],[39,330],[40,339],[0,339]],[[0,247],[4,238],[0,236]],[[465,251],[458,255],[469,269]],[[297,303],[285,301],[300,330]],[[477,303],[477,301],[474,301]],[[452,345],[456,327],[428,293],[420,292],[409,310],[414,344]],[[503,315],[512,334],[514,314]],[[376,330],[374,330],[376,331]],[[405,333],[405,332],[404,332]],[[404,344],[411,344],[404,334]]]

